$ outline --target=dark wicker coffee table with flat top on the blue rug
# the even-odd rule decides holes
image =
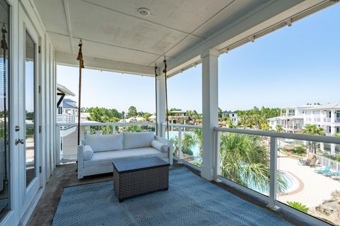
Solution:
[[[119,202],[125,198],[169,188],[169,163],[158,157],[118,159],[113,164],[113,186]]]

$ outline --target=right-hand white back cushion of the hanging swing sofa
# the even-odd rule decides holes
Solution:
[[[154,132],[124,132],[124,149],[151,147]]]

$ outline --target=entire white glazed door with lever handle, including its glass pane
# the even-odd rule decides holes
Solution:
[[[41,186],[40,169],[40,37],[22,8],[19,25],[18,138],[21,213],[23,215]]]

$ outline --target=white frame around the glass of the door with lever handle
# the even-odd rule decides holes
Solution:
[[[30,18],[27,16],[26,11],[23,9],[23,6],[19,5],[19,28],[18,28],[18,37],[19,37],[19,73],[18,73],[18,124],[21,128],[19,130],[19,138],[25,140],[26,131],[25,131],[25,37],[26,37],[26,30],[30,35],[30,38],[33,39],[35,42],[35,171],[36,176],[30,182],[28,187],[26,187],[26,148],[25,145],[18,145],[18,152],[19,152],[19,200],[21,203],[20,205],[20,217],[22,217],[28,207],[33,202],[35,196],[38,195],[38,191],[42,186],[42,176],[39,171],[39,167],[42,166],[41,164],[41,157],[42,157],[42,149],[40,147],[40,133],[39,133],[39,124],[40,124],[40,103],[41,97],[39,94],[39,86],[40,86],[40,64],[41,64],[41,57],[38,52],[38,47],[41,46],[41,37],[38,33],[38,30],[35,29],[33,23],[30,21]]]

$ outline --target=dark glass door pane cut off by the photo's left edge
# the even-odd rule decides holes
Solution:
[[[10,210],[8,148],[9,6],[0,0],[0,221]]]

